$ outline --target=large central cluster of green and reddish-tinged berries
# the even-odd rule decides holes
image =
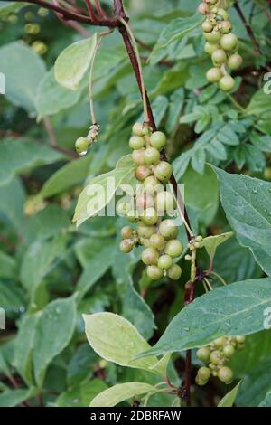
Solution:
[[[120,250],[131,252],[135,246],[144,246],[141,260],[147,266],[150,279],[161,279],[167,275],[180,279],[182,269],[173,259],[182,254],[182,243],[176,239],[178,228],[173,220],[165,217],[173,213],[173,194],[165,190],[172,173],[172,165],[161,160],[161,150],[166,137],[161,131],[151,132],[148,126],[136,123],[129,145],[133,149],[135,177],[140,182],[136,187],[133,204],[120,203],[117,212],[137,223],[136,230],[125,226],[121,231],[123,241]]]

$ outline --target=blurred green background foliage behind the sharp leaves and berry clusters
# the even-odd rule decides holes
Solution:
[[[205,162],[271,180],[271,102],[261,89],[270,66],[270,7],[259,0],[239,3],[262,54],[254,52],[231,8],[244,64],[229,97],[205,80],[210,59],[201,28],[164,50],[153,50],[165,26],[194,14],[198,2],[126,1],[156,123],[168,134],[167,155],[185,184],[193,230],[203,235],[229,231],[216,175]],[[113,311],[154,343],[182,308],[189,270],[181,260],[181,282],[163,279],[149,287],[140,253],[118,251],[121,220],[94,218],[78,229],[71,224],[82,187],[129,153],[131,127],[141,116],[119,34],[111,34],[98,54],[95,103],[101,132],[88,156],[79,158],[74,141],[89,127],[86,81],[70,92],[57,85],[50,70],[82,34],[39,7],[7,13],[5,6],[0,2],[0,71],[7,81],[6,95],[0,97],[0,306],[6,313],[6,330],[0,334],[0,405],[87,406],[107,386],[155,383],[156,378],[101,360],[86,342],[81,314]],[[203,253],[200,261],[206,268]],[[218,249],[215,270],[228,283],[264,276],[250,250],[235,238]],[[143,291],[145,300],[139,295]],[[246,376],[238,405],[255,405],[271,390],[270,361],[268,332],[250,336],[233,364],[237,378]],[[193,364],[196,370],[195,359]],[[174,354],[173,382],[182,382],[183,365],[183,352]],[[194,385],[192,390],[193,404],[203,406],[216,405],[227,391],[215,380],[206,390]],[[172,400],[159,395],[150,403],[168,406]]]

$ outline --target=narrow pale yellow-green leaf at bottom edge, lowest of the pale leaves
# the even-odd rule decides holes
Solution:
[[[157,392],[157,388],[148,383],[126,382],[118,383],[98,394],[90,403],[89,407],[114,407],[121,401],[145,394]]]

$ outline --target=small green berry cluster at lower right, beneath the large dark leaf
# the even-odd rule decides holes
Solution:
[[[245,347],[246,336],[221,336],[213,341],[209,346],[201,347],[197,351],[197,357],[201,362],[208,364],[198,370],[196,382],[198,385],[205,385],[210,376],[218,376],[221,382],[230,383],[233,380],[233,372],[225,363],[235,353],[235,350],[242,350]]]

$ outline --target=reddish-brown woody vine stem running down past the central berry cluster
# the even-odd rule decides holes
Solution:
[[[18,0],[18,1],[21,2],[23,0]],[[135,73],[135,80],[137,81],[137,84],[143,99],[145,122],[148,123],[149,126],[152,127],[152,129],[155,131],[156,126],[154,121],[154,114],[151,108],[150,101],[148,99],[147,92],[145,90],[145,83],[143,78],[140,56],[137,49],[134,33],[132,32],[129,26],[129,18],[126,15],[124,5],[123,5],[123,0],[114,0],[114,15],[113,16],[108,16],[102,10],[98,1],[95,1],[96,11],[97,11],[97,14],[96,14],[93,6],[91,5],[91,2],[89,0],[86,0],[86,5],[87,5],[89,15],[82,14],[81,10],[80,10],[80,13],[78,13],[78,10],[75,5],[65,4],[65,8],[64,8],[58,5],[58,2],[54,2],[53,4],[51,4],[44,0],[28,0],[28,3],[32,3],[34,5],[41,5],[42,7],[46,9],[50,9],[55,14],[60,15],[62,21],[67,21],[68,23],[70,21],[70,22],[89,24],[93,26],[105,26],[109,30],[113,30],[115,28],[118,29],[125,43],[126,52],[131,61],[131,65]],[[95,116],[93,116],[93,114],[91,115],[92,115],[92,120],[95,121],[96,120]],[[166,158],[164,151],[161,152],[161,156],[163,159]],[[173,186],[174,195],[178,203],[178,210],[182,215],[187,237],[188,237],[188,240],[190,241],[193,238],[190,220],[185,207],[183,210],[184,213],[182,214],[182,195],[179,192],[178,184],[176,182],[174,175],[172,175],[170,183]],[[193,273],[192,279],[185,286],[185,292],[184,292],[185,305],[192,302],[195,296],[195,284],[196,282],[199,282],[204,277],[204,274],[202,274],[201,269],[197,267],[196,260],[194,261],[194,269],[195,269],[195,273]],[[190,398],[191,398],[191,351],[190,350],[188,350],[186,354],[184,382],[182,387],[178,391],[178,395],[181,399],[187,401],[188,405],[190,405]]]

